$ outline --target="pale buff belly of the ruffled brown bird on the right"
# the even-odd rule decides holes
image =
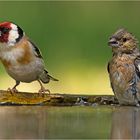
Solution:
[[[112,76],[110,78],[113,91],[119,102],[121,104],[135,104],[134,91],[132,90],[132,85],[136,85],[136,83],[133,83],[133,66],[129,65],[128,67],[125,67],[122,65],[119,68],[116,67],[116,69],[112,71]]]

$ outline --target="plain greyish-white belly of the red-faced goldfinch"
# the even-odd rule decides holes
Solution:
[[[37,80],[39,75],[44,70],[44,64],[41,59],[37,59],[28,64],[16,64],[11,65],[9,69],[7,69],[8,74],[14,78],[16,81],[21,82],[32,82]]]

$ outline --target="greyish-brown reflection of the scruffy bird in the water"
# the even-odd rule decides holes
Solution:
[[[118,107],[114,110],[111,139],[140,139],[140,108]]]

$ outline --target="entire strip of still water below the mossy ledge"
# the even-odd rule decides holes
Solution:
[[[0,107],[1,139],[140,138],[136,107]]]

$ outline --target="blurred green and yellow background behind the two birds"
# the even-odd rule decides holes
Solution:
[[[121,27],[140,40],[139,13],[136,1],[0,2],[0,22],[17,23],[40,48],[47,70],[59,79],[45,86],[57,93],[112,94],[107,42]],[[14,84],[0,65],[0,89]],[[18,89],[34,92],[39,84]]]

